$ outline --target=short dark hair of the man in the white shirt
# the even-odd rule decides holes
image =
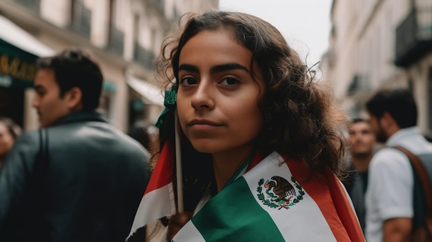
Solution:
[[[417,125],[417,105],[410,90],[380,90],[367,101],[366,109],[377,119],[389,112],[400,128]]]

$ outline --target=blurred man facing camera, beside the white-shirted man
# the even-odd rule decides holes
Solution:
[[[369,163],[375,152],[375,134],[368,120],[362,118],[351,120],[348,124],[348,143],[351,159],[346,168],[347,177],[342,182],[351,196],[355,213],[364,232],[366,215],[364,194],[368,184]]]

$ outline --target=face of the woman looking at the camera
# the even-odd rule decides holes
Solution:
[[[177,110],[181,129],[199,152],[247,154],[262,128],[262,74],[252,53],[227,30],[204,30],[179,56]],[[227,153],[228,152],[228,153]]]

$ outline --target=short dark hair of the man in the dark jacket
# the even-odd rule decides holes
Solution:
[[[84,50],[70,48],[53,57],[40,58],[37,70],[41,69],[54,70],[60,97],[77,87],[82,92],[84,110],[95,110],[99,106],[104,77],[99,65]]]

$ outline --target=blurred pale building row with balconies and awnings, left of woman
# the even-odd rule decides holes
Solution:
[[[100,109],[108,119],[124,132],[137,122],[153,123],[163,108],[153,71],[161,42],[182,14],[217,8],[217,2],[0,1],[0,20],[14,29],[0,28],[0,116],[12,117],[25,130],[36,129],[31,107],[35,59],[78,46],[90,50],[101,66],[105,81]]]

